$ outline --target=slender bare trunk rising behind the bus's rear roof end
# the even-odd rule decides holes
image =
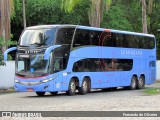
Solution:
[[[146,15],[146,0],[142,0],[142,25],[143,25],[143,33],[148,33],[147,15]]]

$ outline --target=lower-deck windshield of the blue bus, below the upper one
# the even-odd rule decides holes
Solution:
[[[19,55],[16,74],[23,77],[37,77],[49,74],[49,60],[43,59],[44,54]]]

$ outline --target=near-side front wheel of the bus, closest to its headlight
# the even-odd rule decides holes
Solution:
[[[66,92],[68,95],[74,95],[76,92],[76,83],[75,79],[72,78],[69,82],[68,91]]]

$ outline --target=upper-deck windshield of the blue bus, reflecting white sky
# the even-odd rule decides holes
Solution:
[[[20,38],[20,46],[50,46],[55,39],[55,28],[27,29]]]

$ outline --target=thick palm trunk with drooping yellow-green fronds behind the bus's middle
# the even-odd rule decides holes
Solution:
[[[65,11],[71,12],[73,8],[80,4],[80,0],[62,0],[62,8]],[[108,11],[111,0],[90,0],[90,9],[88,11],[89,24],[92,27],[100,27],[103,20],[104,9]]]

